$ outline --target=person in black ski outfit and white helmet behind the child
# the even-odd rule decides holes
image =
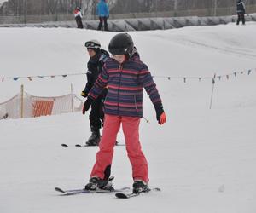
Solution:
[[[108,59],[108,52],[104,49],[101,49],[101,43],[97,40],[90,40],[85,43],[87,52],[90,56],[90,60],[87,63],[87,83],[81,95],[87,97],[90,89],[95,83],[98,75],[102,72],[102,66],[104,62]],[[90,130],[91,136],[86,141],[88,146],[97,146],[101,139],[100,129],[102,128],[104,112],[103,112],[103,101],[105,99],[107,89],[102,90],[102,94],[99,95],[96,100],[91,105],[90,110]],[[85,113],[85,111],[83,111]]]

